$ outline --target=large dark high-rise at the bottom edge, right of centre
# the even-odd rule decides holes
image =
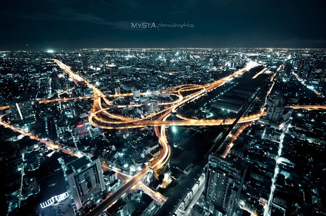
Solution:
[[[242,160],[209,156],[205,184],[205,208],[213,216],[232,216],[238,203],[246,167]]]

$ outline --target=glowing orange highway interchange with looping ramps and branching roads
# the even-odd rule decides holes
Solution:
[[[92,210],[91,213],[89,213],[89,216],[97,216],[97,215],[101,214],[103,211],[105,211],[107,208],[109,208],[114,202],[116,202],[124,193],[126,193],[133,185],[135,185],[137,182],[139,182],[148,173],[149,168],[158,170],[158,169],[162,168],[163,165],[168,161],[171,152],[170,152],[170,148],[169,148],[168,141],[167,141],[166,134],[165,134],[165,127],[161,127],[161,126],[218,126],[218,125],[221,125],[223,122],[225,125],[231,125],[235,121],[235,119],[195,120],[195,119],[187,119],[180,115],[176,115],[176,116],[181,120],[166,121],[166,119],[171,115],[171,113],[175,113],[176,110],[180,106],[184,105],[185,103],[187,103],[189,101],[193,101],[195,99],[198,99],[199,97],[206,94],[207,92],[210,92],[211,90],[217,88],[218,86],[224,85],[227,81],[233,79],[234,77],[241,75],[244,71],[257,66],[257,64],[247,65],[247,67],[240,69],[227,77],[224,77],[220,80],[217,80],[213,83],[206,84],[203,86],[181,85],[181,86],[175,86],[170,89],[166,89],[163,91],[163,93],[174,94],[177,97],[177,100],[172,101],[172,102],[159,103],[159,105],[165,105],[165,108],[163,110],[153,113],[153,114],[150,114],[149,116],[147,116],[145,118],[135,120],[135,119],[131,119],[131,118],[114,115],[109,112],[109,108],[102,107],[102,99],[109,107],[112,105],[112,102],[109,101],[108,98],[133,96],[132,93],[105,95],[96,86],[89,83],[88,81],[86,81],[85,79],[80,77],[79,75],[73,73],[68,66],[66,66],[65,64],[63,64],[62,62],[60,62],[56,59],[54,59],[54,61],[57,63],[57,65],[61,69],[65,70],[65,72],[74,80],[74,82],[76,82],[76,83],[84,82],[87,86],[93,88],[94,96],[57,98],[57,99],[52,99],[52,100],[42,100],[42,101],[39,101],[39,103],[50,103],[50,102],[68,101],[68,100],[74,100],[74,99],[94,98],[93,112],[89,115],[89,122],[94,127],[111,130],[111,129],[144,128],[146,126],[153,126],[154,131],[159,138],[159,143],[162,146],[162,152],[161,152],[160,156],[155,161],[153,161],[149,167],[145,168],[144,170],[135,174],[134,176],[128,176],[128,177],[131,177],[130,180],[127,183],[125,183],[124,185],[122,185],[115,193],[113,193],[111,196],[109,196],[107,199],[105,199],[103,202],[101,202],[97,206],[97,208],[95,208],[94,210]],[[263,72],[266,70],[267,70],[266,68],[263,69]],[[259,74],[261,74],[261,72]],[[272,81],[272,79],[271,79],[271,81]],[[188,94],[187,96],[183,96],[181,92],[184,93],[187,91],[190,91],[190,92],[196,91],[196,92]],[[141,94],[144,95],[146,93],[141,93]],[[140,105],[129,105],[129,106],[140,106]],[[123,108],[123,107],[127,107],[127,106],[118,106],[118,107]],[[290,107],[293,109],[302,109],[302,108],[325,109],[326,108],[325,105],[296,105],[296,106],[290,106]],[[9,106],[4,106],[4,107],[0,107],[0,110],[8,109],[8,108],[9,108]],[[107,120],[102,119],[99,114],[106,115],[107,117],[112,119],[112,121],[107,121]],[[265,113],[262,111],[261,113],[258,113],[258,114],[242,117],[237,123],[240,124],[240,123],[248,123],[248,122],[256,121],[261,116],[264,116],[264,115],[265,115]],[[1,116],[1,118],[2,118],[2,116]],[[71,154],[71,155],[74,155],[77,157],[81,156],[80,153],[73,153],[70,150],[62,147],[61,145],[54,143],[53,141],[39,138],[36,135],[25,132],[24,130],[19,130],[12,125],[2,122],[1,119],[0,119],[0,125],[4,126],[6,128],[9,128],[11,130],[20,132],[21,134],[23,134],[25,136],[29,136],[32,139],[36,139],[36,140],[48,145],[52,149],[58,149],[64,153]],[[120,126],[120,125],[122,125],[122,126]],[[230,150],[231,147],[232,147],[232,144],[230,143],[230,145],[225,150],[223,157],[226,156],[226,154],[228,153],[228,151]],[[114,168],[106,167],[105,169],[114,169]],[[117,170],[115,170],[115,171],[117,171]],[[140,182],[140,184],[141,184],[141,182]],[[147,191],[151,190],[151,189],[147,188],[147,186],[144,184],[141,184],[140,187],[144,188]],[[162,196],[157,197],[157,201],[163,203],[165,201],[165,198],[163,198]]]

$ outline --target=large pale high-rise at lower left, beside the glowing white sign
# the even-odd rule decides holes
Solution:
[[[84,156],[66,165],[67,181],[78,210],[92,197],[106,190],[98,157]]]

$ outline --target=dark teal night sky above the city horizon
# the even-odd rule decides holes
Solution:
[[[31,3],[33,2],[33,3]],[[325,2],[324,2],[325,3]],[[15,0],[0,50],[126,47],[326,48],[323,0]],[[194,28],[131,28],[131,23]],[[28,44],[28,46],[27,46]]]

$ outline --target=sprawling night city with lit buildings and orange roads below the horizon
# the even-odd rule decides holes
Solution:
[[[1,62],[8,215],[325,214],[323,49],[26,50]]]

